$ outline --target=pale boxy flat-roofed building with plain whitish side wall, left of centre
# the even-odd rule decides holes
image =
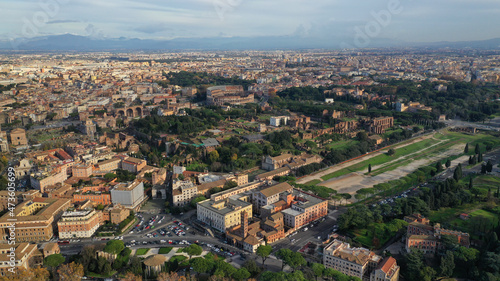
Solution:
[[[139,181],[119,183],[111,189],[111,202],[137,210],[144,201],[144,184]]]

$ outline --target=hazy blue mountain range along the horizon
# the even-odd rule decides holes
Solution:
[[[307,36],[209,37],[152,40],[137,38],[104,38],[63,34],[0,41],[0,51],[132,51],[132,50],[275,50],[275,49],[344,49],[353,39]],[[428,47],[500,49],[500,38],[482,41],[409,43],[374,38],[363,47]]]

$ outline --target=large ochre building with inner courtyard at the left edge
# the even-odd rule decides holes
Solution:
[[[57,232],[57,220],[71,207],[69,199],[35,198],[16,206],[16,242],[40,242],[50,240]],[[0,218],[0,237],[10,236],[10,213]]]

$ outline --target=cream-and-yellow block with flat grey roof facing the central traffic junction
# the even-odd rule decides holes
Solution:
[[[225,233],[226,230],[241,223],[241,213],[252,217],[252,204],[248,196],[234,195],[221,201],[210,199],[197,205],[198,220]]]

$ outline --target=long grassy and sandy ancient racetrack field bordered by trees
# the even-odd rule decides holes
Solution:
[[[339,193],[354,194],[362,188],[370,188],[376,184],[400,179],[422,166],[432,165],[437,161],[451,159],[451,169],[458,163],[467,161],[464,154],[465,144],[469,143],[469,152],[475,144],[486,144],[496,147],[500,140],[486,134],[467,135],[443,130],[405,144],[393,146],[395,155],[388,156],[380,151],[347,163],[301,178],[299,183],[316,184],[334,189]],[[368,174],[368,165],[372,165],[372,173]],[[320,181],[320,182],[318,182]]]

